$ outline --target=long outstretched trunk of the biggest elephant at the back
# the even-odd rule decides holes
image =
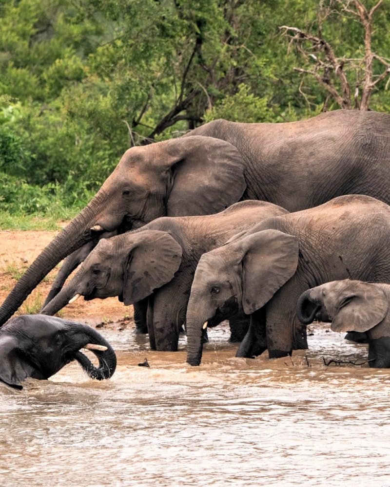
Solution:
[[[95,197],[96,198],[96,197]],[[95,198],[92,200],[94,201]],[[92,203],[92,202],[91,202]],[[39,282],[66,256],[89,242],[94,212],[89,204],[42,250],[0,307],[0,326],[18,310]]]

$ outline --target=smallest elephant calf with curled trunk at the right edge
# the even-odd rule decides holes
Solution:
[[[297,317],[312,323],[318,311],[334,332],[366,332],[369,365],[390,368],[390,285],[376,282],[331,281],[308,289],[297,303]]]

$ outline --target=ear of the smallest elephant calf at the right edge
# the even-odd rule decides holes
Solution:
[[[361,281],[349,284],[340,293],[337,307],[331,322],[334,332],[366,332],[385,318],[389,308],[386,295],[378,285]]]

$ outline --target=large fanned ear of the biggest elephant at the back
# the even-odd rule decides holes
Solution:
[[[194,135],[167,141],[177,164],[167,215],[210,215],[239,201],[246,182],[245,163],[229,142]]]

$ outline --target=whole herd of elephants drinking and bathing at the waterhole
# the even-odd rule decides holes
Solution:
[[[307,348],[306,326],[320,320],[355,332],[370,366],[389,368],[389,205],[387,113],[215,120],[128,149],[0,306],[0,381],[21,388],[71,360],[97,379],[114,373],[98,332],[54,316],[79,296],[133,304],[153,350],[176,351],[184,326],[191,365],[224,320],[236,356],[270,358]],[[13,317],[63,259],[40,313]]]

